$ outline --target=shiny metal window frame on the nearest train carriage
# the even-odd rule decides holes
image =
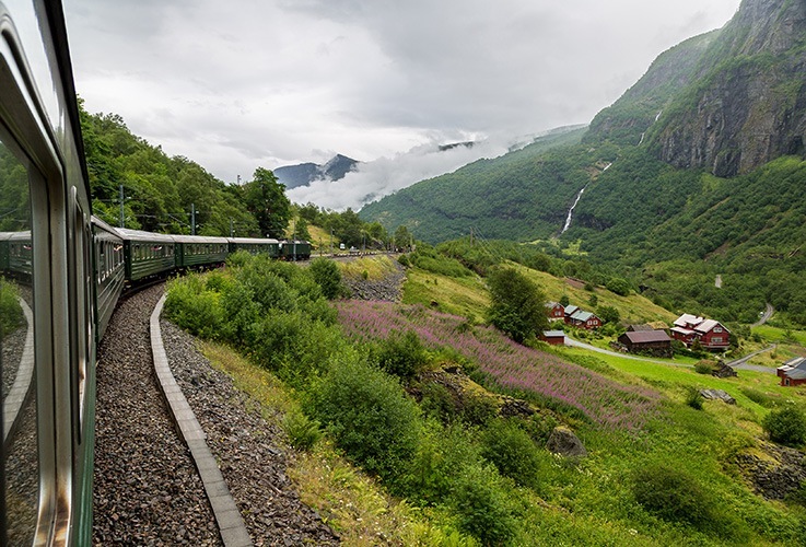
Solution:
[[[28,174],[31,202],[31,236],[33,252],[32,286],[34,292],[34,360],[36,377],[36,438],[38,455],[38,515],[37,540],[49,542],[54,534],[73,534],[70,523],[75,515],[71,503],[65,503],[79,488],[74,468],[72,429],[74,415],[70,407],[70,379],[62,374],[70,363],[70,283],[68,271],[67,210],[68,188],[71,182],[80,182],[86,190],[83,177],[75,175],[75,148],[61,148],[61,138],[72,138],[69,108],[62,109],[61,102],[72,94],[66,93],[66,80],[61,79],[57,60],[56,38],[51,38],[51,13],[46,13],[44,2],[33,7],[14,8],[15,16],[34,21],[38,26],[25,27],[45,53],[32,70],[21,44],[20,35],[7,9],[0,2],[0,132],[3,142],[13,146],[22,154]],[[28,10],[28,11],[26,11]],[[30,16],[31,15],[31,16]],[[44,39],[43,39],[44,38]],[[69,84],[69,82],[67,82]],[[70,85],[67,85],[71,89]],[[42,92],[42,93],[40,93]],[[55,100],[55,101],[54,101]],[[74,97],[73,97],[74,100]],[[52,107],[56,104],[56,108]],[[73,117],[74,119],[74,117]],[[67,154],[65,156],[63,154]],[[80,168],[80,167],[79,167]],[[71,171],[72,170],[72,171]],[[79,181],[81,178],[81,181]],[[89,203],[89,199],[87,199]],[[2,464],[4,466],[4,462]],[[2,472],[4,474],[4,470]],[[0,532],[5,534],[4,519]],[[57,523],[68,523],[68,527]]]

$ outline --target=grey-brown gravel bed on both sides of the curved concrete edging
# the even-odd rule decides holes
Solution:
[[[180,388],[187,411],[203,430],[195,434],[196,443],[179,438],[153,372],[149,339],[149,317],[162,291],[163,286],[152,287],[121,301],[100,348],[93,543],[338,545],[285,476],[288,449],[279,428],[210,366],[192,337],[162,321],[174,388]],[[199,438],[207,463],[191,458]],[[220,469],[211,473],[215,463]],[[222,519],[217,498],[227,489],[232,509],[224,509]],[[234,536],[230,528],[220,531],[217,519],[222,528],[237,521],[242,531]]]

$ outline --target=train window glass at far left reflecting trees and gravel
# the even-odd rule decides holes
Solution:
[[[31,228],[28,171],[0,140],[0,484],[8,545],[33,543],[39,498]]]

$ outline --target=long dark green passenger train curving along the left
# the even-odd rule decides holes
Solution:
[[[62,7],[0,0],[0,545],[92,543],[96,348],[121,291],[236,251],[311,245],[92,216]]]

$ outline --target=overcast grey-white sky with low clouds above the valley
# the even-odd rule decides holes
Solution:
[[[292,200],[359,208],[586,124],[739,0],[63,0],[75,86],[226,183],[362,162]],[[472,150],[437,144],[484,140]]]

